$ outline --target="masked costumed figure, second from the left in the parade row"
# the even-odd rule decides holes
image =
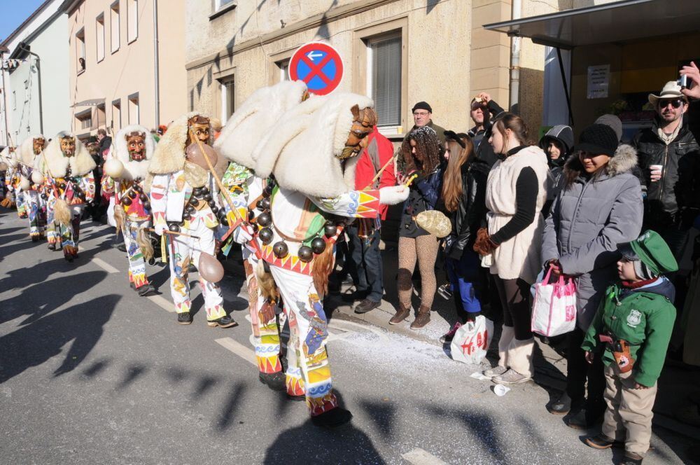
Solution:
[[[42,158],[40,169],[43,169],[45,192],[48,195],[48,248],[62,248],[66,260],[72,262],[78,258],[83,209],[94,197],[94,160],[83,143],[66,131],[56,134]]]

